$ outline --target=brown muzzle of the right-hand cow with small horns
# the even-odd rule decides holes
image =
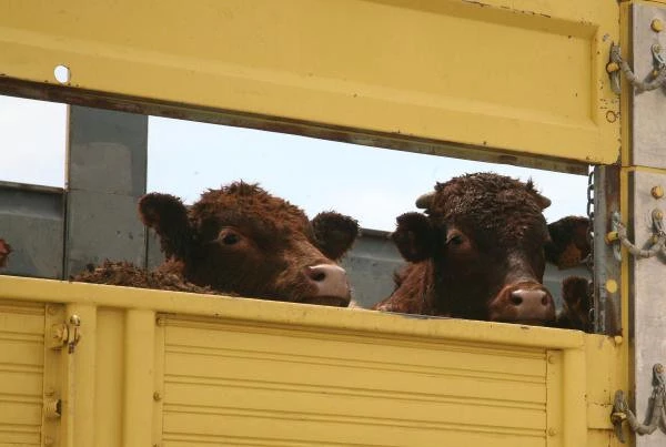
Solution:
[[[518,283],[504,287],[490,303],[494,322],[544,325],[555,321],[555,303],[546,287],[538,283]]]

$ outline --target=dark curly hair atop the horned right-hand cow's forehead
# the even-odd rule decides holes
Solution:
[[[502,244],[541,244],[546,221],[532,181],[492,173],[466,174],[437,183],[428,214],[443,225],[455,224],[475,237]],[[484,237],[485,236],[485,237]]]

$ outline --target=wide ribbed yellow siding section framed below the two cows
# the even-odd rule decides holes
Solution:
[[[170,319],[162,440],[545,446],[546,366],[542,348]]]

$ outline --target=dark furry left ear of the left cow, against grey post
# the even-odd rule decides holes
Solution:
[[[194,232],[183,202],[170,194],[147,194],[139,201],[139,215],[160,237],[167,258],[186,260],[194,243]]]

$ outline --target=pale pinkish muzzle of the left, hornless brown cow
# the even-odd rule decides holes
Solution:
[[[305,267],[305,277],[315,293],[303,303],[346,307],[351,301],[351,289],[346,272],[337,265],[319,264]]]

